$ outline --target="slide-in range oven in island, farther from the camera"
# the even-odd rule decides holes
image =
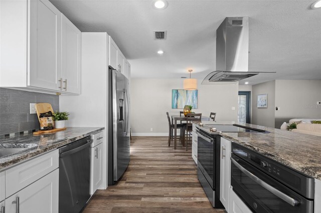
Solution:
[[[213,207],[223,207],[220,201],[220,135],[197,129],[198,178]]]

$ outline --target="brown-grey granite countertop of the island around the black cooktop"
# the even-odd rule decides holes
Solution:
[[[232,123],[209,121],[204,124]],[[267,130],[269,133],[220,132],[219,134],[321,180],[321,137],[248,123],[242,125]]]

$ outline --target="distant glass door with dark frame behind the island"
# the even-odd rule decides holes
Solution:
[[[240,124],[251,123],[251,111],[250,111],[250,91],[239,91],[238,105],[239,111],[237,114],[237,119]]]

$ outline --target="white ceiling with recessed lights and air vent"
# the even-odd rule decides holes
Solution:
[[[249,16],[249,71],[275,71],[246,80],[321,79],[321,8],[314,0],[50,0],[81,31],[106,31],[131,64],[132,77],[200,81],[215,70],[216,29],[227,16]],[[167,30],[154,40],[153,30]],[[164,50],[158,55],[157,50]]]

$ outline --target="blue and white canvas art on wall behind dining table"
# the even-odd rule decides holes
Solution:
[[[197,89],[172,89],[172,108],[184,108],[185,105],[197,108]]]

